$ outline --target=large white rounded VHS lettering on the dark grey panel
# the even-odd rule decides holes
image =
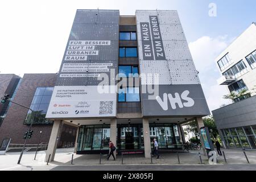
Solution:
[[[192,107],[195,104],[195,101],[188,97],[189,91],[185,90],[181,95],[179,93],[175,93],[173,97],[170,93],[163,94],[163,100],[159,96],[156,96],[156,101],[162,107],[163,110],[168,110],[168,100],[170,101],[172,109],[176,109],[176,104],[180,107]],[[182,100],[181,100],[182,99]],[[184,101],[186,102],[184,102]]]

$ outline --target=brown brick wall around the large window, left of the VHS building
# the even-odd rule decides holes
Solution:
[[[36,88],[38,86],[54,86],[55,80],[56,74],[25,74],[13,101],[29,107]],[[11,138],[11,143],[24,143],[23,135],[28,126],[23,123],[27,111],[26,108],[11,104],[0,127],[0,141],[4,138]],[[48,142],[52,125],[34,125],[32,130],[34,133],[32,138],[28,140],[28,144],[38,143],[40,130],[42,130],[41,142]]]

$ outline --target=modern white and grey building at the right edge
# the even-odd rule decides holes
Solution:
[[[212,111],[225,147],[256,148],[256,24],[217,58],[218,79],[233,103]]]

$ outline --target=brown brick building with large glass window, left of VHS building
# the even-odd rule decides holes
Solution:
[[[32,125],[34,131],[27,144],[36,147],[36,144],[49,142],[52,130],[52,121],[45,118],[52,90],[55,85],[57,75],[53,74],[24,74],[23,78],[15,75],[0,75],[1,97],[3,94],[10,94],[10,98],[18,104],[30,107],[35,112],[35,119]],[[24,133],[28,130],[28,125],[32,121],[31,111],[6,102],[2,107],[3,116],[0,126],[0,142],[3,139],[11,138],[10,146],[22,146],[24,143]],[[3,113],[3,114],[2,114]],[[42,131],[42,133],[40,133]],[[61,135],[57,147],[69,147],[75,145],[76,127],[61,125]],[[41,137],[40,137],[41,135]],[[40,138],[40,141],[39,141]]]

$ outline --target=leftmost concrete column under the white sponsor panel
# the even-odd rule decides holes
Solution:
[[[44,159],[45,162],[47,162],[47,160],[49,158],[49,154],[51,154],[49,161],[54,160],[57,143],[59,141],[60,134],[61,134],[62,123],[63,123],[63,121],[61,121],[61,120],[55,120],[53,122],[52,133],[51,133],[51,137],[49,138],[49,143],[48,143],[48,147],[47,147],[47,151],[46,151],[46,159]]]

